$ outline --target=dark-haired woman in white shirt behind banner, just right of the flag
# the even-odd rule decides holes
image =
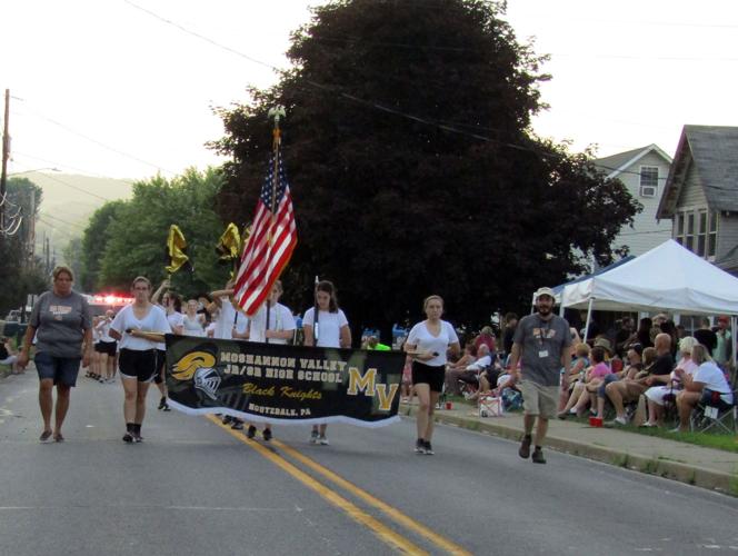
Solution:
[[[328,280],[321,280],[316,285],[316,308],[310,307],[305,311],[302,318],[302,330],[305,331],[305,345],[317,347],[350,348],[351,329],[346,315],[338,307],[336,287]],[[328,445],[326,429],[328,425],[313,425],[310,434],[312,444]]]

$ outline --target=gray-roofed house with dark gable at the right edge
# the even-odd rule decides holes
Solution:
[[[671,237],[738,276],[738,127],[685,126],[657,218]]]

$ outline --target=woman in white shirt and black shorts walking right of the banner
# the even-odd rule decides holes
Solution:
[[[412,356],[412,385],[418,396],[418,439],[417,454],[433,454],[430,438],[433,435],[433,410],[443,390],[446,353],[460,350],[459,337],[450,322],[441,320],[443,299],[429,296],[422,304],[426,320],[412,327],[405,344],[405,350]]]

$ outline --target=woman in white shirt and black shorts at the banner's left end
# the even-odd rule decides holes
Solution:
[[[123,307],[110,325],[110,336],[120,341],[120,377],[126,399],[124,443],[140,443],[146,415],[146,395],[159,370],[157,344],[163,334],[171,332],[163,309],[149,301],[151,282],[142,276],[131,286],[133,302]]]

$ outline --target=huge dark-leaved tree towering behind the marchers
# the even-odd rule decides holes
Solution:
[[[297,31],[292,69],[219,111],[230,155],[223,219],[247,221],[269,151],[267,111],[287,107],[283,146],[299,245],[287,286],[310,302],[336,281],[352,322],[388,327],[440,294],[457,322],[612,260],[638,206],[591,152],[530,131],[543,58],[517,41],[503,3],[341,0]],[[386,329],[386,328],[385,328]]]

